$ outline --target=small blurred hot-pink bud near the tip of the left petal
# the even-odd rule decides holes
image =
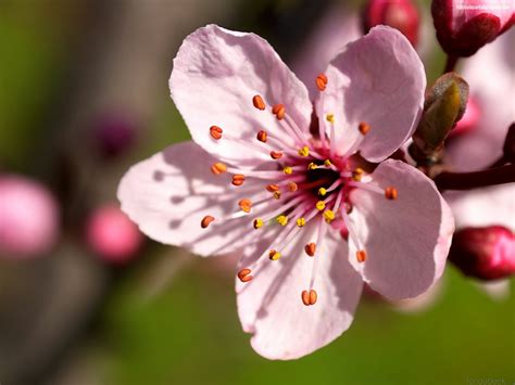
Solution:
[[[114,204],[97,208],[86,224],[89,247],[102,259],[124,264],[135,257],[143,236]]]

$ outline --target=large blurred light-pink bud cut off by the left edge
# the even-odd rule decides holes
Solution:
[[[48,253],[59,233],[59,207],[41,184],[0,176],[0,256],[29,258]]]

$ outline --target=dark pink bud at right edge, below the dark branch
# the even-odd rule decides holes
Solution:
[[[501,226],[460,230],[449,259],[466,275],[480,280],[510,277],[515,273],[515,236]]]

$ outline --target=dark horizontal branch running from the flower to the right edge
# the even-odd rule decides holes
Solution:
[[[435,183],[440,191],[470,190],[511,182],[515,182],[515,165],[474,172],[441,172],[435,178]]]

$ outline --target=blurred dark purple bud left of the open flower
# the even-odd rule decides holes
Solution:
[[[135,144],[136,133],[135,123],[122,114],[104,114],[93,123],[93,143],[105,158],[129,150]]]

